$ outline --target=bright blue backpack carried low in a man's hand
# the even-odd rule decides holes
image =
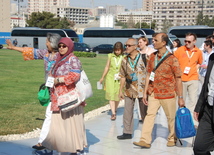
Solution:
[[[192,116],[188,108],[179,108],[175,116],[175,133],[178,139],[189,138],[196,135]]]

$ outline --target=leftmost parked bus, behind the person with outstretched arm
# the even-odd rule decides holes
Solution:
[[[61,37],[71,38],[78,42],[78,35],[71,29],[41,29],[37,27],[14,28],[11,31],[11,40],[17,39],[18,47],[34,47],[45,49],[47,33],[57,33]]]

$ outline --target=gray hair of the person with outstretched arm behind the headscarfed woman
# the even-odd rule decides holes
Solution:
[[[51,47],[54,51],[58,51],[58,43],[61,39],[61,36],[57,33],[47,33],[47,39],[51,44]]]

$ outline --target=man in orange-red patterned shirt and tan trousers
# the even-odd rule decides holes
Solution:
[[[140,141],[133,143],[141,148],[151,147],[154,121],[156,113],[161,106],[168,121],[169,135],[167,138],[167,146],[175,146],[176,93],[179,97],[178,105],[180,107],[184,106],[181,82],[182,72],[178,59],[167,51],[167,42],[168,36],[165,33],[159,33],[155,36],[154,48],[157,49],[157,52],[151,54],[147,65],[143,102],[145,105],[148,105],[148,110]],[[164,58],[165,60],[163,60]],[[161,61],[162,63],[157,67]],[[156,67],[157,69],[154,71]]]

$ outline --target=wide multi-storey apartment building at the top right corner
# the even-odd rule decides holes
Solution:
[[[163,23],[168,20],[172,26],[195,25],[199,12],[213,16],[214,0],[153,0],[153,20],[156,31],[160,32]]]

